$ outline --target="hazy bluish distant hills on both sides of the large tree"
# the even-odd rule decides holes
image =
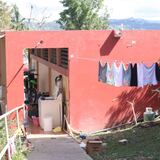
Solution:
[[[150,21],[144,19],[110,19],[109,20],[111,29],[121,28],[123,24],[124,29],[139,29],[139,30],[159,30],[160,29],[160,21]],[[38,23],[31,24],[33,30],[61,30],[59,24],[56,21],[47,22],[39,27]]]

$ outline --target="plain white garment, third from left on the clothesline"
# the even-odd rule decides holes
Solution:
[[[121,63],[119,66],[113,63],[114,85],[119,87],[123,86],[124,67]]]

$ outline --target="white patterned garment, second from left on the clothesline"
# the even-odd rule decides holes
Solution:
[[[109,63],[107,63],[106,83],[114,85],[113,64],[110,66]]]

